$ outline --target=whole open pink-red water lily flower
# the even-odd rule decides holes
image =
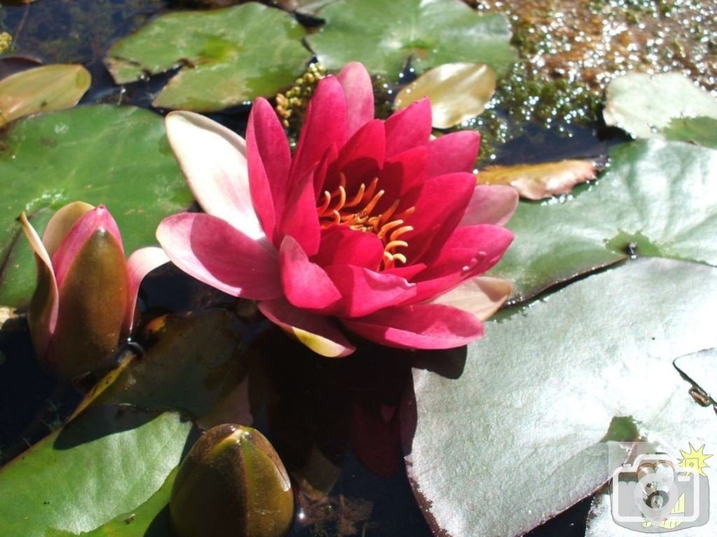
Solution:
[[[194,113],[171,113],[166,125],[206,212],[160,224],[170,259],[258,300],[324,356],[353,351],[340,325],[386,346],[465,345],[511,293],[509,282],[477,277],[511,243],[502,225],[517,204],[510,187],[475,185],[478,133],[431,141],[427,100],[374,119],[361,64],[318,84],[293,156],[261,98],[245,141]]]

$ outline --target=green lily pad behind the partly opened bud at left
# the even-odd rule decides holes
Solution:
[[[35,263],[16,218],[27,212],[42,233],[70,201],[105,204],[125,254],[154,244],[168,214],[191,193],[166,142],[160,116],[131,107],[95,105],[20,120],[0,139],[0,304],[23,306],[35,285]]]

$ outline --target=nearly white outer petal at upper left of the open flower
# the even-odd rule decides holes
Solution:
[[[167,138],[194,198],[251,239],[264,237],[249,186],[244,138],[192,112],[171,112]]]

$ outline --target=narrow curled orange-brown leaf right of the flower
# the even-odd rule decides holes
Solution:
[[[478,171],[478,184],[507,184],[526,199],[569,194],[576,184],[595,179],[593,161],[559,161],[517,166],[486,166]]]

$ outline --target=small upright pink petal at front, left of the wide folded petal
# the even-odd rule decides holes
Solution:
[[[308,260],[293,237],[285,237],[279,250],[284,295],[297,308],[329,313],[341,303],[341,293],[323,268]]]

